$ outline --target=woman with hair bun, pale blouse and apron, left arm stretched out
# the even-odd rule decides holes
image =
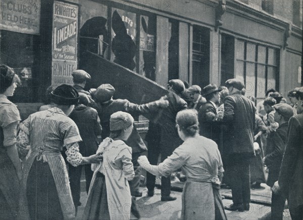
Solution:
[[[187,181],[182,194],[181,219],[227,219],[219,192],[223,164],[217,144],[199,136],[196,110],[178,112],[176,124],[183,144],[158,166],[151,165],[146,156],[140,156],[140,166],[165,177],[182,168]]]

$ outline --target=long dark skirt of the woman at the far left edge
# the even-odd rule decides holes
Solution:
[[[15,219],[19,207],[20,184],[16,168],[7,154],[0,149],[0,219]]]

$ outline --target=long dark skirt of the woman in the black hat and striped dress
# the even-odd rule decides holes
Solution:
[[[64,210],[47,162],[33,161],[27,178],[26,197],[30,219],[64,219]]]

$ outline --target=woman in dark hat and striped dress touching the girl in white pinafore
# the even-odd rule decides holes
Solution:
[[[68,117],[78,100],[77,91],[62,84],[52,92],[55,107],[31,114],[20,124],[19,147],[31,146],[22,183],[31,219],[75,217],[68,171],[61,155],[63,146],[68,162],[74,166],[102,160],[101,155],[82,157],[79,153],[79,131]]]

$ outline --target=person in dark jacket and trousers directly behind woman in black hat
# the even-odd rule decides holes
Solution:
[[[70,114],[70,118],[76,123],[79,128],[79,133],[82,142],[79,144],[79,152],[84,157],[88,157],[96,153],[98,149],[98,142],[101,141],[102,127],[100,119],[95,109],[87,107],[89,99],[86,94],[79,93],[79,104]],[[80,166],[72,166],[69,164],[70,186],[75,207],[80,202],[80,178],[82,167],[85,168],[86,192],[88,193],[89,185],[92,179],[93,172],[91,171],[91,164]]]

